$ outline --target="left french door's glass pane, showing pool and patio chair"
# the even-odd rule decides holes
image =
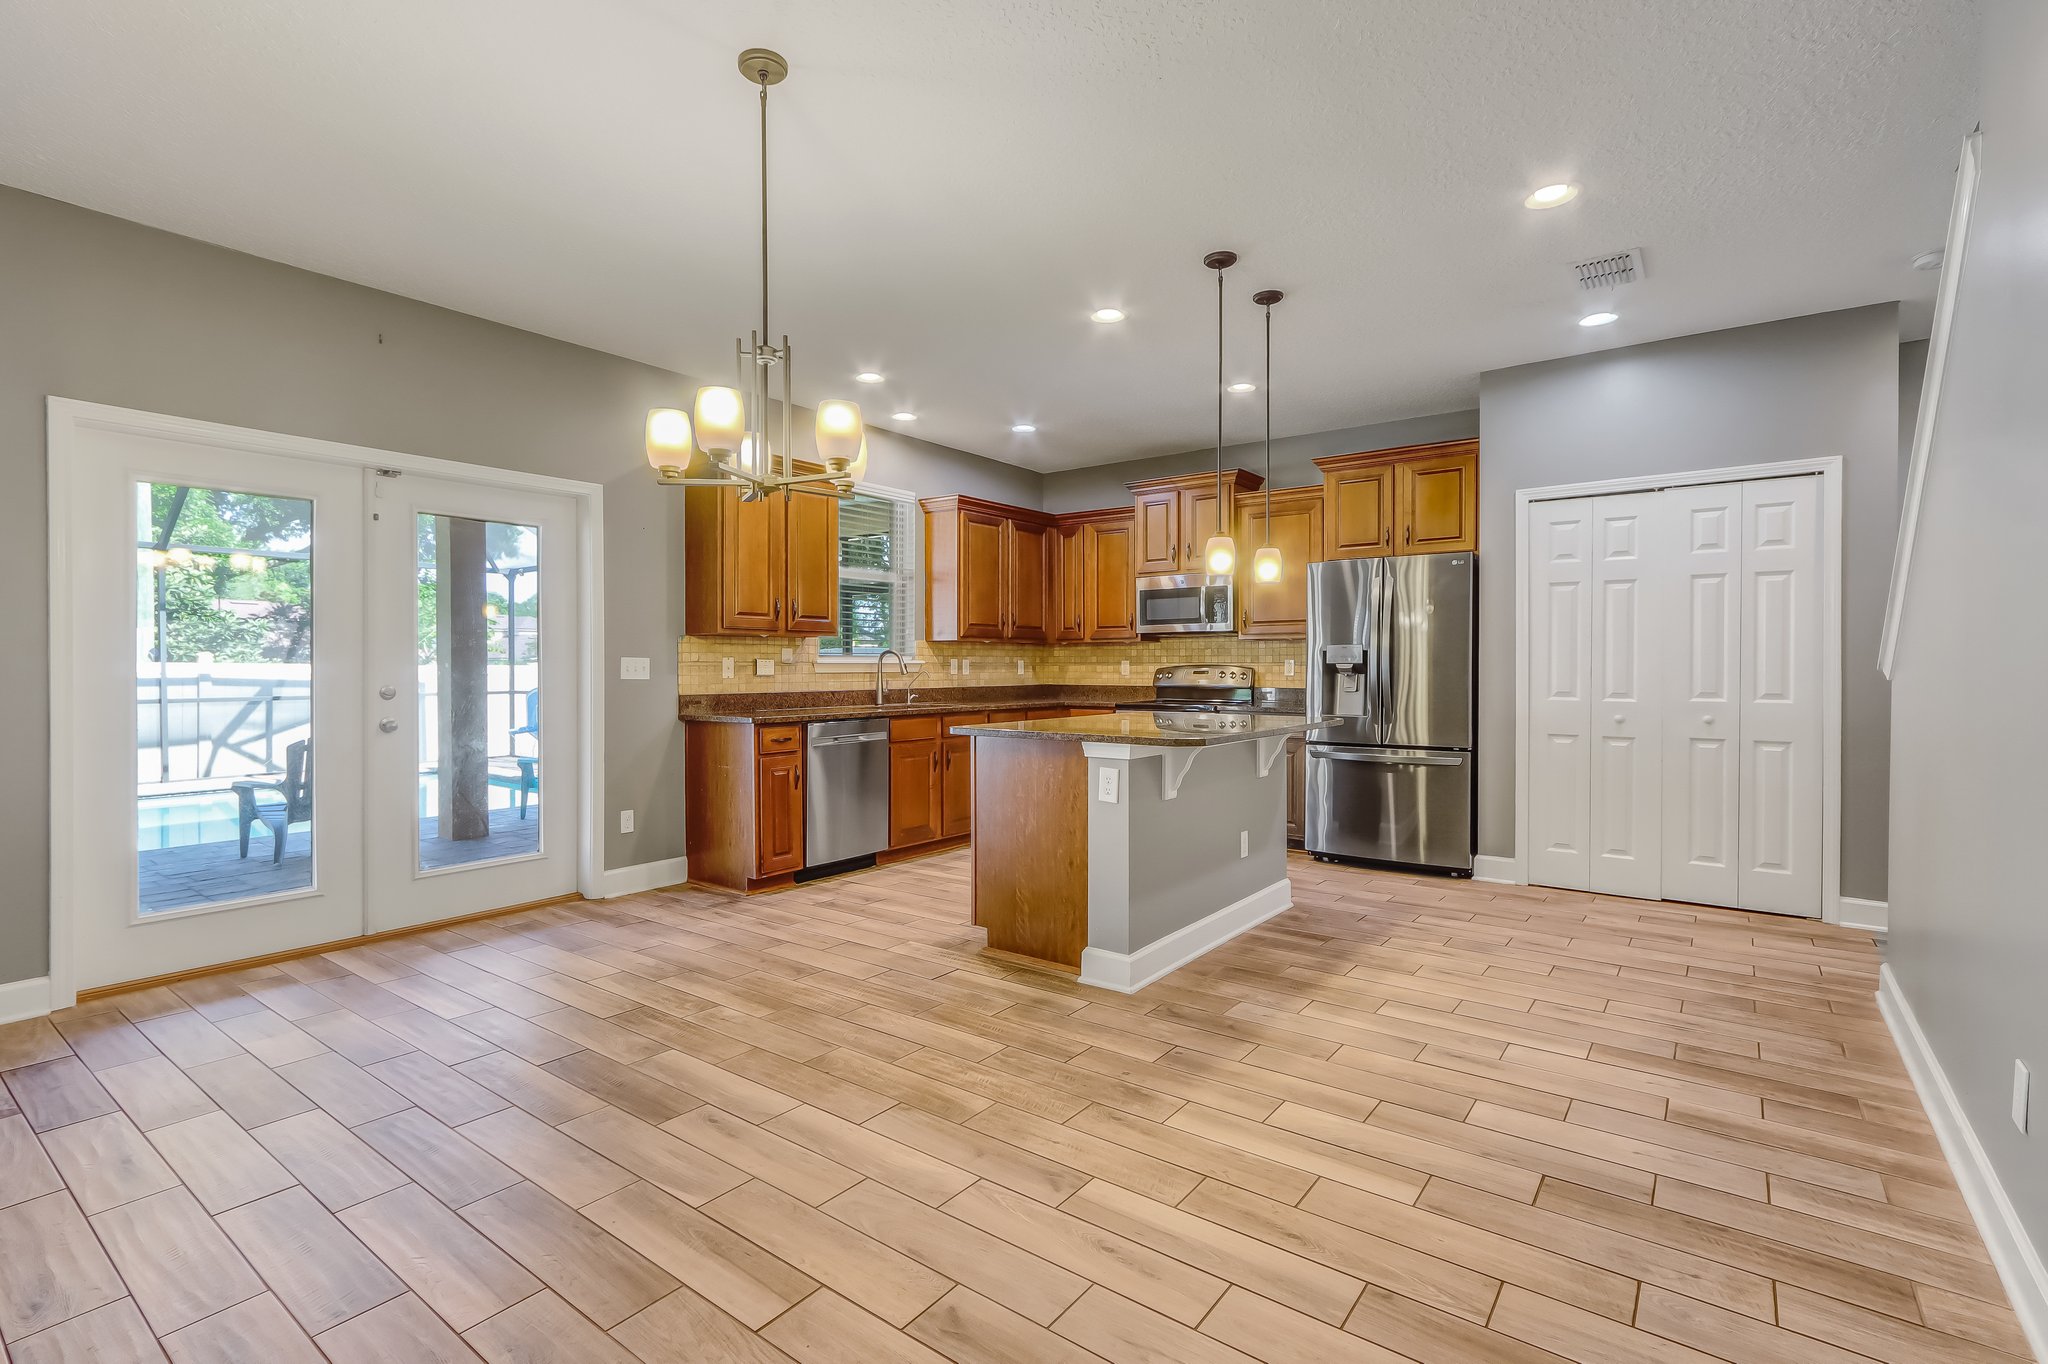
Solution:
[[[313,885],[313,504],[135,485],[143,915]]]

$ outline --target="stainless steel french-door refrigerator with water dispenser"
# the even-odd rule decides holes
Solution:
[[[1309,565],[1303,846],[1473,872],[1473,553]]]

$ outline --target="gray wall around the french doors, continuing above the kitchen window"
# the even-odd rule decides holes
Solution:
[[[682,500],[647,408],[694,381],[0,186],[0,983],[43,975],[49,393],[604,483],[604,862],[682,856]],[[889,432],[870,477],[1038,504],[1038,475]],[[653,680],[618,682],[621,653]],[[119,805],[119,793],[109,793]]]

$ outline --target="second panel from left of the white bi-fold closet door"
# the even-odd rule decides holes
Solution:
[[[1591,889],[1663,891],[1659,547],[1663,494],[1593,502]]]

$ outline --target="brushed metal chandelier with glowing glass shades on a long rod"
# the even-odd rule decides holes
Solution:
[[[768,86],[788,76],[788,61],[766,47],[739,53],[739,74],[760,86],[762,104],[762,326],[750,340],[735,340],[739,383],[705,385],[694,412],[653,408],[647,412],[647,463],[655,481],[668,487],[737,487],[741,502],[756,502],[774,489],[829,483],[848,496],[868,469],[868,438],[860,403],[840,397],[817,406],[817,461],[823,469],[799,473],[791,446],[791,348],[788,336],[768,340]],[[768,436],[768,371],[782,371],[782,420]]]

